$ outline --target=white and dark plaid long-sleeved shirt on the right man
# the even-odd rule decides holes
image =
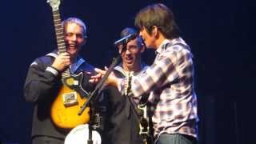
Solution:
[[[160,134],[187,134],[197,138],[197,98],[194,93],[194,67],[190,46],[182,38],[164,40],[156,50],[154,63],[146,73],[134,76],[134,98],[150,93],[154,107],[154,137]],[[126,79],[119,82],[124,90]]]

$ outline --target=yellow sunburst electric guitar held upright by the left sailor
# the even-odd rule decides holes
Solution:
[[[63,27],[61,23],[58,7],[60,0],[48,0],[52,7],[54,18],[54,28],[58,44],[58,53],[66,52],[64,42]],[[62,73],[62,87],[51,106],[51,119],[54,124],[60,128],[72,129],[75,126],[89,122],[89,107],[78,115],[78,111],[84,102],[88,93],[82,89],[81,83],[83,79],[82,72],[79,74],[70,74],[70,69]]]

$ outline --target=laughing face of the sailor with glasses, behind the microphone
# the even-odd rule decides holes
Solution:
[[[125,48],[119,46],[119,53],[121,53],[124,70],[139,71],[141,69],[141,53],[143,51],[144,46],[138,42],[138,38],[130,40]]]

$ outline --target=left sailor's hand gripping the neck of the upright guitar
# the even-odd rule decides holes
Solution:
[[[54,59],[53,64],[51,65],[59,72],[63,72],[68,68],[71,64],[70,60],[70,54],[67,52],[64,52],[62,54],[58,54],[58,56]]]

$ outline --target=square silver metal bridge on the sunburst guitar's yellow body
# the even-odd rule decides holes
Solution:
[[[63,94],[62,99],[63,99],[64,106],[74,106],[78,104],[77,93],[75,91],[71,93]]]

